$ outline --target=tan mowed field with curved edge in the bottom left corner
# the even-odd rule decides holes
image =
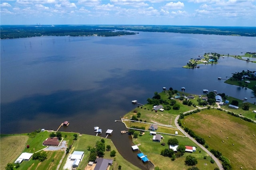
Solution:
[[[1,164],[0,169],[4,170],[8,163],[12,163],[20,155],[22,150],[26,147],[28,136],[15,135],[15,136],[1,136]]]

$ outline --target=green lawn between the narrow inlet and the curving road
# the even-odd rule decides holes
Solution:
[[[214,169],[216,164],[211,164],[210,163],[210,156],[206,154],[203,150],[201,150],[198,145],[193,143],[188,139],[188,137],[175,137],[178,139],[179,144],[183,145],[188,145],[188,146],[195,146],[197,147],[196,152],[193,153],[185,153],[184,156],[181,156],[180,158],[176,158],[176,160],[171,161],[171,158],[164,157],[160,155],[161,150],[169,148],[168,146],[168,139],[172,138],[173,136],[171,135],[163,135],[163,139],[161,143],[166,143],[165,146],[160,145],[161,143],[159,142],[154,142],[152,141],[152,135],[149,135],[149,132],[145,132],[144,135],[139,136],[137,139],[134,139],[134,143],[136,145],[139,145],[139,149],[141,152],[146,154],[149,158],[149,160],[155,165],[161,168],[162,170],[168,170],[168,169],[177,169],[177,170],[182,170],[182,169],[188,169],[189,166],[186,166],[184,164],[184,160],[186,155],[192,154],[198,159],[198,164],[196,165],[200,169]],[[208,156],[207,159],[204,159],[204,156]],[[205,165],[205,163],[207,165]]]

